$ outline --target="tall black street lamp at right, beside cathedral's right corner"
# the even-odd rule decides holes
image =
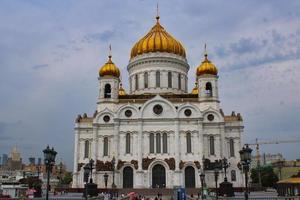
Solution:
[[[239,151],[241,156],[241,165],[245,172],[245,199],[248,200],[248,172],[251,163],[251,152],[252,149],[249,148],[248,144]]]

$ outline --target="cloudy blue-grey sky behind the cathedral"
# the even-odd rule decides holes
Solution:
[[[300,139],[299,0],[159,0],[161,24],[195,68],[207,43],[225,114],[240,112],[245,142]],[[72,168],[74,120],[96,108],[97,73],[112,45],[128,88],[131,47],[155,23],[157,1],[1,0],[0,153],[27,161],[47,144]],[[300,158],[299,143],[263,152]]]

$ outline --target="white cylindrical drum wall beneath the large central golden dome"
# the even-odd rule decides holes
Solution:
[[[159,55],[159,56],[158,56]],[[128,64],[130,93],[182,94],[188,91],[189,65],[185,58],[169,53],[149,53],[130,60]],[[160,72],[160,87],[156,86],[156,72]],[[145,88],[144,74],[148,73],[148,87]],[[168,72],[172,73],[172,87],[168,87]],[[178,74],[181,75],[179,89]],[[137,75],[137,76],[136,76]],[[138,88],[136,78],[138,77]]]

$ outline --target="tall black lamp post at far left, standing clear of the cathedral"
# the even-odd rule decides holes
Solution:
[[[44,153],[44,162],[46,166],[47,171],[47,190],[46,190],[46,200],[49,198],[49,179],[50,179],[50,172],[52,170],[53,165],[55,164],[55,156],[57,152],[53,149],[53,147],[50,149],[49,146],[47,146],[46,149],[43,150]]]

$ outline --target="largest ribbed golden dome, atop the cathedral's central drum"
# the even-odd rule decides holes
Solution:
[[[150,52],[168,52],[185,58],[185,49],[181,43],[160,25],[159,16],[156,19],[157,22],[150,32],[132,47],[130,58]]]

